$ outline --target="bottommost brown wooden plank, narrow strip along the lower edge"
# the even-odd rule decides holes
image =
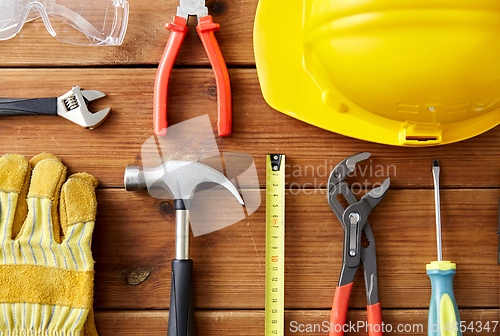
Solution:
[[[498,313],[498,309],[461,309],[460,317],[462,321],[467,322],[466,326],[474,322],[474,328],[471,327],[465,334],[496,334],[499,328]],[[382,315],[385,330],[392,330],[400,335],[427,334],[427,312],[424,310],[384,310]],[[262,310],[197,311],[195,316],[197,334],[200,336],[261,336],[264,333]],[[326,335],[329,317],[328,310],[285,311],[285,335]],[[363,327],[363,323],[366,324],[365,311],[351,310],[347,314],[347,320],[347,323],[350,321],[356,326],[359,323],[360,328],[357,329],[359,332],[355,333],[356,335],[368,335],[366,326]],[[487,322],[491,329],[479,331],[479,326],[485,326]],[[168,324],[168,311],[97,311],[96,324],[101,336],[164,335]],[[493,331],[495,325],[496,330]],[[402,332],[398,333],[398,328]]]

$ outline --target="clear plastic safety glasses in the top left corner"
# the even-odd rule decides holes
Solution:
[[[126,0],[0,0],[0,40],[42,18],[48,32],[70,44],[120,45],[128,23]]]

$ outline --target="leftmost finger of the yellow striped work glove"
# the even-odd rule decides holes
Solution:
[[[26,194],[30,171],[30,164],[22,155],[5,154],[0,158],[0,235],[2,241],[17,235],[26,218],[28,213]]]

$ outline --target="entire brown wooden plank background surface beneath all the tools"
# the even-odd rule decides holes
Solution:
[[[101,336],[166,334],[175,244],[172,202],[146,192],[126,192],[123,173],[126,165],[149,160],[141,148],[153,134],[156,68],[169,36],[165,23],[175,14],[178,0],[129,2],[129,28],[119,47],[60,43],[41,20],[26,23],[18,36],[1,41],[1,97],[61,96],[80,85],[107,94],[91,104],[92,111],[112,108],[95,130],[56,117],[0,120],[0,153],[31,157],[51,152],[63,159],[69,173],[87,171],[100,182],[93,253]],[[423,330],[408,333],[426,334],[430,280],[425,264],[436,259],[431,165],[439,159],[443,254],[457,263],[454,289],[460,314],[467,326],[474,322],[475,327],[465,335],[498,333],[498,326],[479,331],[478,322],[490,321],[493,327],[499,320],[500,128],[456,144],[401,148],[331,133],[273,110],[262,97],[253,56],[257,4],[206,1],[221,25],[216,38],[229,67],[233,99],[233,133],[215,141],[221,152],[253,157],[260,189],[252,190],[262,199],[257,211],[235,219],[235,224],[191,237],[198,335],[263,335],[265,155],[270,152],[287,155],[286,335],[326,334],[314,327],[329,318],[343,238],[326,199],[328,175],[345,157],[362,151],[372,156],[349,178],[358,197],[391,178],[389,192],[369,218],[377,244],[384,322],[394,327],[422,325]],[[168,122],[181,125],[208,114],[216,130],[214,74],[195,23],[189,26],[170,79]],[[176,155],[193,159],[189,150]],[[244,191],[250,190],[247,180],[239,182]],[[213,218],[237,217],[222,207],[208,210]],[[362,271],[355,278],[348,321],[366,320]],[[294,332],[294,321],[303,329]]]

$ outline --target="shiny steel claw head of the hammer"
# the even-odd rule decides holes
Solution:
[[[196,187],[203,182],[213,182],[224,186],[244,205],[243,199],[223,174],[219,171],[193,161],[167,161],[156,168],[129,165],[125,169],[124,183],[127,191],[142,190],[162,181],[174,199],[193,198]]]

